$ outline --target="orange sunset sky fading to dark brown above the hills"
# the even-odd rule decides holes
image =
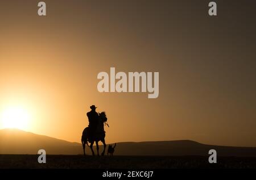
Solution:
[[[80,142],[95,104],[106,143],[256,146],[255,2],[216,1],[217,16],[198,0],[44,1],[46,16],[38,2],[0,3],[2,116],[18,107],[25,131]],[[159,97],[98,92],[111,67],[159,72]]]

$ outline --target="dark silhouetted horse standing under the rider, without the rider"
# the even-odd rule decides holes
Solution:
[[[88,131],[89,131],[88,127],[86,127],[84,129],[84,131],[82,131],[82,140],[81,141],[82,141],[82,148],[84,149],[84,155],[85,155],[85,145],[86,144],[88,145],[88,142],[90,143],[90,149],[92,150],[93,156],[95,155],[94,151],[93,151],[94,141],[96,142],[98,156],[100,156],[100,154],[98,153],[98,150],[99,150],[98,141],[101,141],[104,145],[104,150],[101,153],[101,156],[104,156],[104,154],[105,154],[106,143],[105,143],[104,123],[106,123],[108,118],[106,118],[105,112],[98,113],[98,115],[99,115],[98,124],[97,124],[96,131],[94,133],[94,137],[92,137],[92,138],[88,137]]]

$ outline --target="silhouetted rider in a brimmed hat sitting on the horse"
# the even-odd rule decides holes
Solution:
[[[91,111],[87,112],[87,116],[89,119],[89,139],[92,139],[95,135],[95,131],[98,125],[98,113],[96,112],[96,106],[92,105],[90,106]]]

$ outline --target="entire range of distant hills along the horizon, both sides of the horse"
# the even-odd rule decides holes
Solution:
[[[102,151],[100,146],[100,151]],[[80,143],[36,135],[18,129],[0,130],[0,154],[36,154],[39,149],[47,154],[82,154]],[[120,156],[208,156],[209,149],[218,156],[256,156],[256,148],[205,145],[190,140],[117,143],[114,155]],[[86,153],[90,149],[86,146]]]

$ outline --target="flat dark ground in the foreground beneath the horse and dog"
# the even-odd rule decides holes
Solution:
[[[37,155],[0,155],[0,168],[256,168],[256,157],[217,157],[209,164],[208,156],[66,156],[47,155],[46,164]]]

